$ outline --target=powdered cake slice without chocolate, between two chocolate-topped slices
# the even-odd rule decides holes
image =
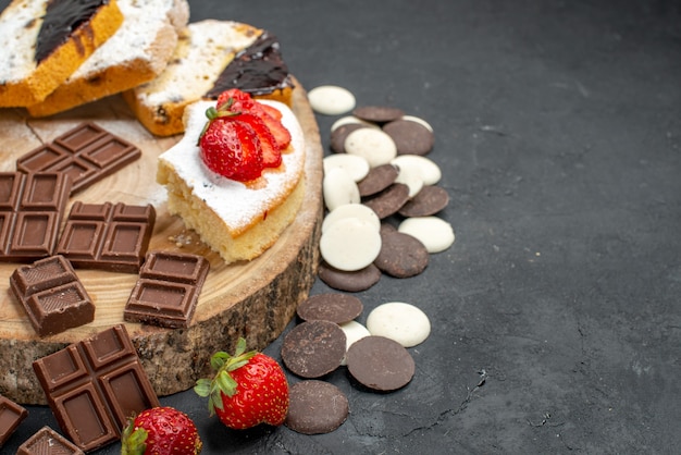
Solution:
[[[51,115],[137,87],[165,69],[177,35],[189,20],[186,0],[117,0],[119,30],[42,102],[28,107],[34,116]]]

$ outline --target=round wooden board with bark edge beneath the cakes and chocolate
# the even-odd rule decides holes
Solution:
[[[206,256],[210,272],[188,329],[163,329],[125,323],[158,395],[194,385],[210,373],[215,351],[233,351],[239,336],[262,349],[284,330],[298,303],[307,298],[319,261],[322,219],[322,158],[319,130],[307,94],[297,84],[293,110],[306,136],[306,196],[294,223],[260,258],[226,266],[222,259],[169,214],[165,189],[156,183],[158,156],[178,137],[148,133],[120,97],[85,106],[49,119],[28,118],[21,109],[0,109],[0,171],[14,171],[17,157],[77,126],[94,121],[135,144],[143,157],[116,174],[71,198],[101,204],[152,204],[157,220],[149,249]],[[22,404],[45,404],[33,361],[116,323],[137,281],[136,274],[76,270],[96,305],[95,321],[66,332],[39,337],[9,290],[16,263],[0,263],[0,394]]]

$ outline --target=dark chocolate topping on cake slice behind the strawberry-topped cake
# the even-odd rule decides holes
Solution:
[[[280,44],[274,35],[263,32],[252,45],[234,57],[206,97],[216,99],[230,88],[239,88],[253,96],[269,95],[290,86]]]

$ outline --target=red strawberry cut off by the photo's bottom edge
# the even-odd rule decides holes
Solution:
[[[121,436],[123,455],[198,455],[201,447],[191,419],[169,406],[147,409],[131,418]]]

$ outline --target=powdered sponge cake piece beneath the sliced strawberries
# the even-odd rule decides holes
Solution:
[[[159,157],[157,181],[168,190],[168,209],[218,251],[225,262],[251,260],[280,237],[295,219],[305,196],[305,137],[298,120],[284,103],[260,101],[282,114],[290,144],[282,164],[265,169],[249,182],[223,177],[209,170],[197,145],[214,101],[198,101],[185,112],[185,135]]]

